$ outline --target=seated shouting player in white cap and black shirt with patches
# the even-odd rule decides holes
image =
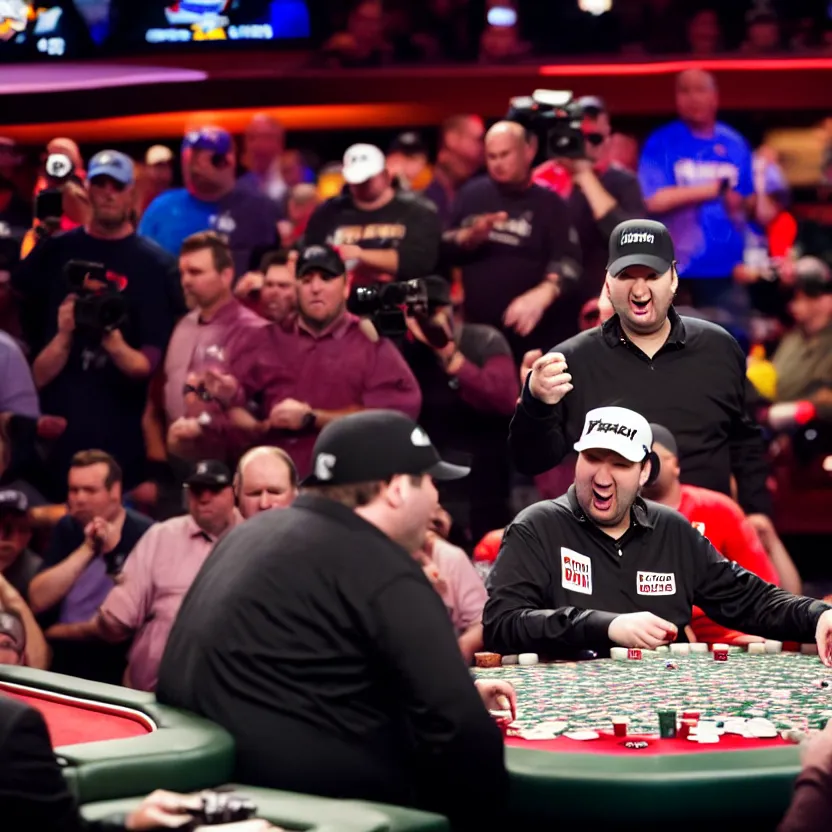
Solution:
[[[483,612],[489,649],[550,657],[686,641],[696,604],[718,623],[816,641],[832,666],[832,606],[726,560],[681,514],[645,502],[658,473],[647,420],[623,407],[586,414],[575,483],[506,529]]]

